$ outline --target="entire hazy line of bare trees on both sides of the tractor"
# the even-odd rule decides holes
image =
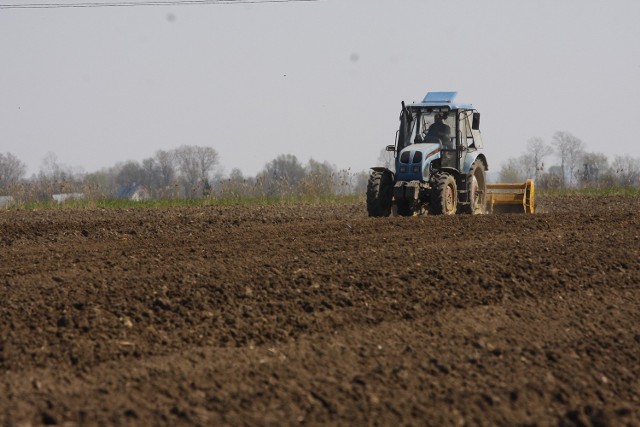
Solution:
[[[393,168],[383,151],[379,161]],[[549,166],[550,161],[557,162]],[[0,153],[0,197],[16,202],[51,200],[54,194],[84,198],[251,198],[364,194],[368,172],[338,170],[328,162],[281,154],[255,176],[240,169],[222,172],[220,156],[211,147],[182,145],[158,150],[141,162],[128,160],[97,172],[85,173],[61,164],[48,154],[37,174],[26,178],[26,164],[11,153]],[[533,178],[539,189],[568,187],[640,188],[640,159],[589,152],[569,132],[556,132],[551,143],[530,138],[525,152],[500,166],[499,182]]]

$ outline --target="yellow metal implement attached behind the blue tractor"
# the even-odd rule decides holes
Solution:
[[[487,184],[489,213],[534,213],[533,180],[517,184]]]

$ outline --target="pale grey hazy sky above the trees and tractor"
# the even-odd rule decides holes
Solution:
[[[556,131],[638,158],[639,16],[637,0],[0,8],[0,153],[28,175],[51,153],[89,173],[183,144],[225,174],[280,154],[357,172],[394,143],[401,101],[457,91],[490,172]]]

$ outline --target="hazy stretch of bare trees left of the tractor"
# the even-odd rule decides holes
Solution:
[[[54,194],[92,200],[322,197],[364,193],[368,177],[328,162],[303,164],[291,154],[277,156],[255,176],[240,169],[225,175],[218,152],[195,145],[158,150],[141,162],[128,160],[92,173],[65,166],[50,153],[37,174],[26,178],[26,170],[15,155],[0,153],[0,196],[17,202],[50,200]]]

